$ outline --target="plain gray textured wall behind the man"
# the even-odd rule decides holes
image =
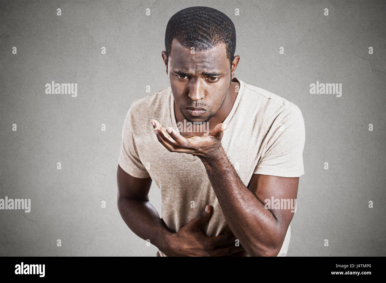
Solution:
[[[0,198],[31,199],[30,213],[0,210],[0,255],[156,255],[117,209],[121,131],[146,85],[151,94],[169,85],[166,24],[191,6],[234,22],[236,77],[303,113],[287,256],[385,256],[385,2],[234,0],[0,2]],[[46,94],[52,80],[77,83],[78,96]],[[310,94],[317,80],[342,83],[342,97]],[[154,182],[149,198],[161,214]]]

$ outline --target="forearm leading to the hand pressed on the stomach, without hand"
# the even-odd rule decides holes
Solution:
[[[157,210],[150,201],[118,197],[118,210],[127,226],[140,238],[150,240],[159,250],[169,247],[169,236],[173,232],[159,218]]]

